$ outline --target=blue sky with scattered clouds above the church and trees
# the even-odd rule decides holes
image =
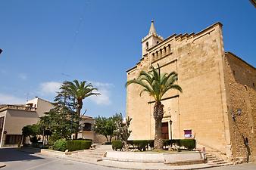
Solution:
[[[256,9],[240,1],[3,0],[0,5],[0,104],[53,100],[64,80],[101,91],[84,100],[90,116],[126,110],[126,70],[141,58],[151,23],[159,35],[223,23],[225,51],[256,65]]]

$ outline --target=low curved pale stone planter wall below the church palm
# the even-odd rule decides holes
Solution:
[[[180,153],[139,153],[108,151],[102,160],[120,162],[161,162],[171,165],[189,165],[205,162],[203,153],[199,151]]]

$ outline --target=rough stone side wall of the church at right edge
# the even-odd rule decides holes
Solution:
[[[233,159],[255,161],[256,70],[231,53],[226,53],[224,70]]]

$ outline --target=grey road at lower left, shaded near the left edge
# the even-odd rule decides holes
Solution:
[[[108,168],[48,156],[39,156],[37,154],[21,152],[14,148],[0,149],[0,162],[6,164],[6,167],[1,168],[1,170],[120,170],[119,168]]]

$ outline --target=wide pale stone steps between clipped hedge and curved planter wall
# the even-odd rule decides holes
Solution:
[[[67,157],[76,159],[80,162],[98,162],[102,160],[102,157],[108,150],[111,150],[111,147],[102,145],[100,147],[97,146],[95,149],[83,150],[77,153],[72,153]]]

